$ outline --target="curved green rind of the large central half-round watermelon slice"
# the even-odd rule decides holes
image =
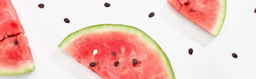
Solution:
[[[151,46],[151,48],[156,49],[157,51],[161,52],[160,54],[163,57],[163,60],[165,60],[165,64],[169,68],[169,75],[171,79],[175,79],[175,74],[172,70],[172,65],[162,50],[162,48],[155,42],[148,34],[140,30],[139,28],[135,28],[128,25],[120,25],[120,24],[101,24],[101,25],[93,25],[89,27],[82,28],[78,31],[73,32],[72,34],[68,35],[59,45],[58,47],[64,50],[66,46],[76,40],[76,38],[79,38],[80,36],[84,34],[91,34],[91,33],[102,33],[105,31],[126,31],[131,34],[137,34],[141,37],[141,40],[146,41],[147,44]]]

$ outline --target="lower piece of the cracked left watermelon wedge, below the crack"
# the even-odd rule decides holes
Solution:
[[[25,35],[8,37],[0,42],[0,75],[22,74],[34,68],[34,61]]]

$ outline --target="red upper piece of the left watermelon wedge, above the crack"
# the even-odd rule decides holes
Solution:
[[[0,41],[25,33],[11,0],[0,0],[0,16]]]

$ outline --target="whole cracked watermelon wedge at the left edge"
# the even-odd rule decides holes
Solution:
[[[11,0],[0,0],[0,16],[0,75],[34,70],[28,40]]]

